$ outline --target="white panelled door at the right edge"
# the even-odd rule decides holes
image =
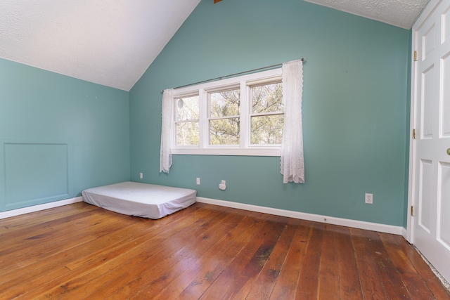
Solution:
[[[450,0],[432,0],[413,26],[410,240],[450,282]]]

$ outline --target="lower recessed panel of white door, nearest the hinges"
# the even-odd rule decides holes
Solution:
[[[431,228],[431,192],[432,192],[432,162],[420,160],[419,174],[419,225],[428,233]]]

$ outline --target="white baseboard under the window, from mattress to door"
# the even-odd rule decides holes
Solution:
[[[197,202],[219,205],[221,207],[231,207],[235,209],[244,209],[248,211],[257,211],[264,214],[274,214],[276,216],[288,216],[289,218],[302,219],[307,221],[316,221],[329,223],[333,225],[347,226],[359,229],[373,230],[380,233],[392,233],[394,235],[404,235],[406,230],[401,226],[385,225],[380,223],[371,223],[365,221],[356,221],[350,219],[335,218],[334,216],[321,216],[319,214],[307,214],[300,211],[288,211],[285,209],[274,209],[271,207],[260,207],[252,204],[243,204],[224,200],[214,200],[210,198],[197,197]]]

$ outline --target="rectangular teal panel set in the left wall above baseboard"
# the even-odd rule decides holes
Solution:
[[[67,198],[68,145],[5,143],[6,207]]]

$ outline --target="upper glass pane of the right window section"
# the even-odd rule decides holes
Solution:
[[[252,113],[283,112],[283,85],[252,86]]]

